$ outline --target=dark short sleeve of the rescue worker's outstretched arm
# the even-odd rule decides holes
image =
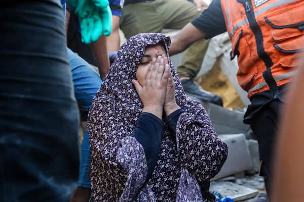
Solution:
[[[213,0],[200,16],[191,22],[196,28],[206,33],[205,38],[212,38],[226,31],[225,19],[220,0]]]

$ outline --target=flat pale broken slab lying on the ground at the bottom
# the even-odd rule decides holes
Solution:
[[[222,196],[227,196],[234,199],[234,201],[253,198],[258,194],[257,189],[252,189],[246,186],[238,185],[233,182],[225,181],[211,182],[210,191],[216,191]]]

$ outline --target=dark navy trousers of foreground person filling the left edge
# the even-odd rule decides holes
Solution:
[[[68,201],[79,114],[60,1],[5,1],[0,10],[0,201]]]

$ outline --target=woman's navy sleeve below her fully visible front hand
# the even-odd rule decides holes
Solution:
[[[150,178],[157,160],[161,146],[164,122],[157,116],[143,112],[138,117],[132,136],[142,145],[148,167],[147,178]]]

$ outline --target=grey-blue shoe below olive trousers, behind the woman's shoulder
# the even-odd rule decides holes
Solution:
[[[194,82],[193,78],[182,79],[180,82],[185,93],[191,96],[192,98],[207,103],[213,103],[221,107],[223,106],[223,100],[220,96],[204,90],[203,88],[201,88],[201,86]]]

